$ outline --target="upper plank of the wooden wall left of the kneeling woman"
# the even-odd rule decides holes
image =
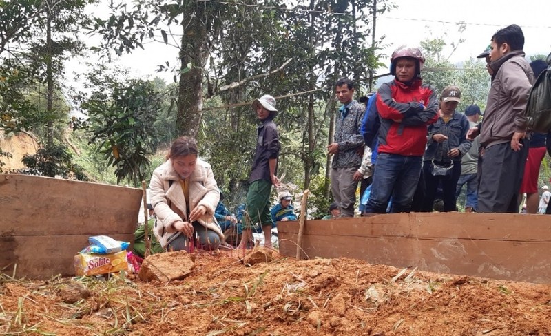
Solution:
[[[110,235],[136,229],[142,191],[0,174],[0,235]]]

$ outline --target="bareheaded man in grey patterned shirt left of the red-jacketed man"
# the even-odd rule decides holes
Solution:
[[[331,169],[331,191],[339,205],[341,217],[353,217],[356,202],[357,181],[353,176],[362,163],[364,138],[360,133],[366,107],[352,97],[354,83],[341,78],[335,85],[335,92],[342,106],[335,122],[334,142],[327,146],[333,155]]]

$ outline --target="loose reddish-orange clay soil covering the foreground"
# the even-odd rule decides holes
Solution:
[[[4,278],[0,335],[551,335],[551,286],[273,257],[198,254],[169,283]]]

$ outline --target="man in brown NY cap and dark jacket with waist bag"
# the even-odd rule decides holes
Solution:
[[[425,197],[422,211],[433,211],[438,185],[442,185],[444,211],[455,211],[455,189],[461,175],[461,157],[471,142],[467,140],[469,122],[455,109],[461,102],[457,86],[447,86],[440,96],[439,116],[436,123],[428,125],[427,147],[423,156]],[[435,167],[441,167],[439,171]]]

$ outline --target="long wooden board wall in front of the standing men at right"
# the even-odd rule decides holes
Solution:
[[[278,222],[280,253],[295,256],[298,222]],[[301,258],[495,279],[551,283],[551,216],[508,213],[397,213],[306,220]]]

